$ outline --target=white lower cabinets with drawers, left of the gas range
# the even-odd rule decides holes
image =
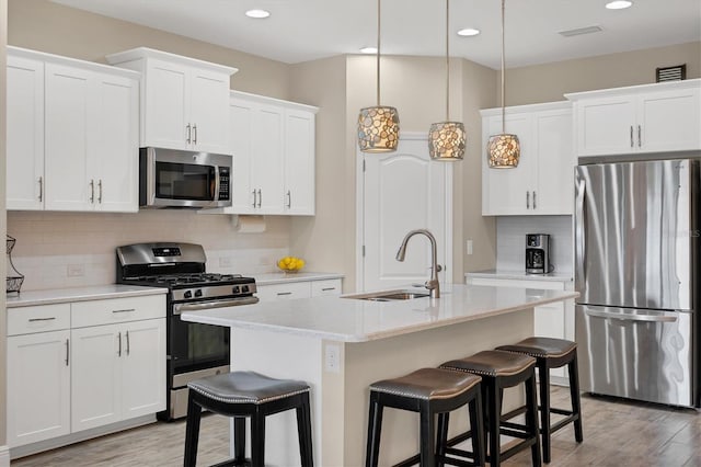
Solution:
[[[8,445],[165,409],[165,296],[8,309]]]

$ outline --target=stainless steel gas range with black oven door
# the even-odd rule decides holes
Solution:
[[[229,329],[182,321],[181,312],[258,301],[253,277],[207,273],[206,262],[203,247],[194,243],[117,247],[117,283],[170,291],[166,295],[168,406],[158,414],[161,420],[187,414],[187,383],[229,372]]]

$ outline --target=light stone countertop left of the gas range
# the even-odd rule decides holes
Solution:
[[[68,301],[99,300],[103,298],[137,297],[143,295],[160,295],[168,293],[168,288],[141,287],[136,285],[94,285],[89,287],[53,288],[44,291],[27,291],[19,295],[10,294],[7,298],[8,308],[28,307],[34,305],[53,305]]]

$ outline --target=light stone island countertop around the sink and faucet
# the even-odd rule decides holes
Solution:
[[[422,291],[425,291],[421,287]],[[299,298],[183,312],[185,321],[366,342],[508,314],[578,296],[575,292],[453,284],[438,299],[370,301]]]

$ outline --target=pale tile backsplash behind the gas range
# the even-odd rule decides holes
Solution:
[[[115,248],[149,241],[200,243],[207,271],[262,274],[289,252],[289,218],[265,217],[265,231],[239,232],[235,217],[195,210],[135,214],[8,212],[22,291],[115,282]]]

